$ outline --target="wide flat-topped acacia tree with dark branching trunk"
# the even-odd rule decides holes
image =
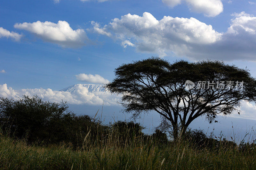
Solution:
[[[164,124],[172,127],[174,139],[179,127],[182,135],[199,116],[211,123],[220,114],[240,114],[242,100],[256,100],[256,79],[249,70],[222,61],[169,63],[152,57],[123,64],[115,74],[105,87],[122,94],[124,111],[132,113],[133,118],[156,111]],[[194,84],[187,86],[187,80]]]

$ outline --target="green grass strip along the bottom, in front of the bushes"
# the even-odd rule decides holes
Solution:
[[[88,140],[89,141],[89,140]],[[103,145],[85,141],[84,149],[65,144],[48,147],[0,136],[1,169],[256,169],[256,149],[243,152],[220,144],[198,148],[186,142],[153,141]]]

